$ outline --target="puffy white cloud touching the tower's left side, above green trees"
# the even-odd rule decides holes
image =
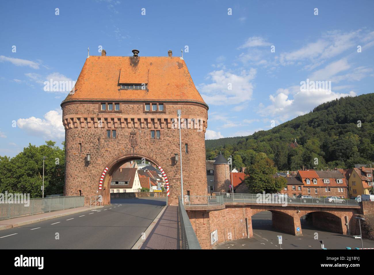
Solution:
[[[44,119],[31,116],[17,120],[19,128],[24,129],[31,135],[43,138],[61,139],[64,138],[64,126],[62,125],[62,110],[49,111]]]

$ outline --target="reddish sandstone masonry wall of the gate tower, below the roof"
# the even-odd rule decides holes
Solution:
[[[63,116],[73,114],[84,114],[96,117],[102,114],[99,112],[99,103],[65,103]],[[200,104],[192,103],[165,103],[166,115],[177,117],[177,109],[185,116],[198,116],[207,119],[207,109]],[[121,103],[121,113],[129,116],[145,115],[142,103]],[[110,112],[107,112],[110,113]],[[113,113],[112,113],[113,114]],[[151,114],[150,114],[151,116]],[[154,116],[154,114],[152,114]],[[85,203],[88,204],[89,196],[103,195],[104,204],[109,202],[110,193],[107,184],[110,183],[111,174],[120,164],[130,159],[142,156],[146,160],[155,162],[162,166],[169,179],[170,198],[169,204],[178,204],[177,196],[181,195],[180,163],[175,163],[174,154],[180,153],[179,129],[161,129],[156,127],[154,122],[148,128],[135,128],[134,121],[131,128],[121,128],[120,123],[116,139],[107,139],[106,130],[108,123],[103,128],[88,128],[87,122],[84,128],[65,129],[66,131],[66,181],[65,195],[79,195],[79,190],[85,196]],[[138,123],[140,124],[140,123]],[[110,125],[114,129],[114,123]],[[152,129],[160,130],[160,139],[151,139]],[[133,150],[129,145],[131,132],[137,133],[139,144]],[[184,195],[187,191],[190,195],[206,195],[206,170],[205,170],[205,132],[197,129],[181,129],[182,139],[182,162],[183,162],[183,185]],[[82,143],[82,152],[79,150],[79,143]],[[188,144],[188,153],[185,153],[184,144]],[[91,163],[85,161],[86,154],[91,154]],[[104,178],[103,190],[98,190],[99,179],[104,168],[108,165],[109,170]],[[105,190],[104,190],[105,189]]]

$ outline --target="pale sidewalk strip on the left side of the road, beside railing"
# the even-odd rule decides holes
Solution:
[[[101,206],[98,206],[98,207],[101,207]],[[18,218],[13,218],[13,219],[0,220],[0,230],[12,228],[12,227],[18,227],[18,226],[22,226],[22,225],[30,224],[30,223],[36,223],[38,221],[49,220],[49,219],[66,216],[66,215],[70,215],[74,213],[79,213],[83,211],[88,211],[90,209],[95,209],[98,207],[90,208],[90,207],[83,206],[83,207],[76,207],[76,208],[70,208],[70,209],[65,209],[65,210],[46,212],[46,213],[30,215],[30,216],[23,216],[23,217],[18,217]]]

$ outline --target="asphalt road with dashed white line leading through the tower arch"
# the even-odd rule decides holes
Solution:
[[[113,199],[96,210],[0,230],[0,249],[130,249],[165,204],[165,198]]]

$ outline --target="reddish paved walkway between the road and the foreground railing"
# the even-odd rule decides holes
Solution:
[[[178,206],[168,206],[140,249],[180,249]]]

